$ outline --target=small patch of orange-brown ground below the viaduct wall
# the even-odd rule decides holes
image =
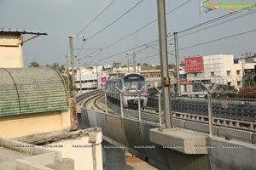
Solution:
[[[157,170],[156,168],[148,165],[147,162],[135,157],[126,157],[126,170]]]

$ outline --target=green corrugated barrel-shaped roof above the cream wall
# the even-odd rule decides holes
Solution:
[[[0,116],[67,110],[67,89],[49,67],[0,69]]]

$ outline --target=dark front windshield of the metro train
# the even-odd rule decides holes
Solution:
[[[134,88],[141,90],[144,86],[144,77],[127,76],[127,77],[124,77],[124,83],[125,83],[126,90],[134,90]]]

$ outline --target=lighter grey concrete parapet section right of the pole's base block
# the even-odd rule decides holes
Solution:
[[[208,139],[209,161],[212,169],[255,169],[256,148],[253,144],[228,141],[218,137]]]

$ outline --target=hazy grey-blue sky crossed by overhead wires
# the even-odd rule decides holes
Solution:
[[[85,42],[81,38],[73,39],[76,66],[79,62],[84,67],[112,65],[113,62],[126,64],[127,59],[132,59],[131,53],[136,54],[137,62],[158,64],[160,63],[158,23],[154,21],[157,19],[157,0],[141,1],[0,0],[0,27],[48,33],[47,36],[40,36],[24,43],[25,66],[32,61],[40,65],[65,64],[66,55],[70,55],[68,37],[76,35],[84,36],[86,39]],[[210,0],[210,2],[216,5],[217,3],[256,3],[256,0]],[[87,26],[110,3],[112,4],[109,8]],[[137,6],[134,7],[136,4]],[[181,7],[177,8],[178,6]],[[132,7],[134,8],[131,9]],[[238,58],[248,52],[256,54],[256,8],[253,8],[254,11],[245,10],[233,15],[228,8],[217,8],[207,14],[204,12],[201,14],[199,0],[166,0],[166,13],[174,8],[177,9],[166,14],[166,32],[170,35],[167,37],[170,64],[175,63],[172,45],[174,31],[178,32],[180,61],[183,61],[184,57],[196,55],[234,54]],[[131,11],[125,14],[129,9]],[[125,15],[120,17],[123,14]],[[203,23],[226,14],[230,15],[224,20],[202,26]],[[152,24],[146,26],[150,22]],[[111,23],[113,24],[108,26]],[[198,25],[201,27],[181,32]],[[84,29],[85,26],[87,27]],[[145,27],[140,29],[143,26]],[[104,27],[107,28],[102,31]],[[96,34],[98,31],[101,32]],[[131,34],[132,32],[134,33]],[[128,37],[130,34],[131,36]],[[233,37],[238,34],[241,35]],[[25,39],[27,37],[30,36],[26,35]],[[123,40],[119,41],[120,39]],[[193,48],[188,48],[190,46]],[[80,50],[82,47],[83,50]]]

